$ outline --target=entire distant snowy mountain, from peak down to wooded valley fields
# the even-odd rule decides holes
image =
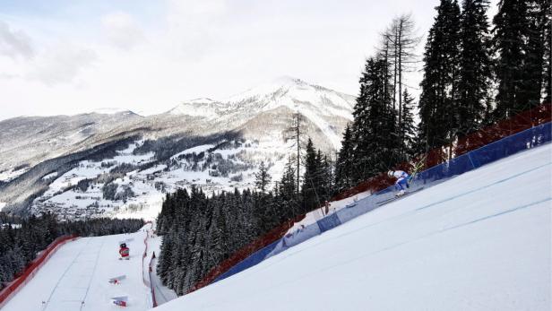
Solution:
[[[164,193],[177,187],[211,192],[253,186],[261,161],[278,180],[297,150],[289,134],[297,113],[302,140],[311,138],[334,157],[354,100],[284,77],[228,99],[189,100],[149,117],[109,109],[4,120],[0,208],[151,218]]]

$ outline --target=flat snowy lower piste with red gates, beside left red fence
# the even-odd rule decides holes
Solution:
[[[128,235],[79,238],[61,246],[2,310],[117,310],[110,298],[119,296],[128,296],[126,310],[148,309],[151,294],[142,282],[146,235],[142,230]],[[125,239],[129,240],[128,261],[118,260],[119,241]],[[123,274],[126,278],[120,284],[108,283],[110,278]]]

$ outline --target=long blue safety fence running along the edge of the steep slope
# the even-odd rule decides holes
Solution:
[[[543,125],[531,127],[530,129],[505,137],[495,143],[489,143],[479,149],[462,154],[453,160],[419,172],[410,180],[409,191],[415,192],[430,186],[435,186],[450,178],[469,172],[470,170],[479,168],[496,160],[505,159],[515,153],[550,143],[551,141],[552,123],[548,122]],[[315,223],[306,227],[301,227],[283,238],[276,240],[269,246],[263,247],[242,262],[237,263],[228,272],[221,274],[213,282],[224,280],[237,272],[242,272],[257,263],[261,263],[263,260],[273,255],[280,254],[289,249],[289,247],[296,246],[309,238],[314,238],[329,229],[338,227],[362,214],[373,211],[383,206],[387,201],[391,202],[390,200],[393,197],[394,186],[389,186],[356,203],[351,203],[341,210],[321,220],[317,220]]]

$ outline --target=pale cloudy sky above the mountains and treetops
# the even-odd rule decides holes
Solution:
[[[281,75],[356,95],[364,60],[393,16],[411,13],[425,36],[437,4],[3,0],[0,119],[98,108],[154,114]],[[408,83],[418,87],[419,74]]]

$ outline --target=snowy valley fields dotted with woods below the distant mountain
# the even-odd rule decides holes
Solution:
[[[151,168],[138,169],[154,160],[152,152],[136,155],[134,150],[142,141],[131,143],[127,149],[117,151],[116,157],[101,161],[83,160],[78,166],[58,176],[53,172],[43,177],[51,179],[47,191],[34,200],[32,212],[54,212],[60,219],[83,219],[89,217],[143,218],[154,220],[160,212],[166,193],[177,188],[201,187],[206,194],[220,191],[233,191],[254,187],[254,174],[261,161],[265,161],[269,173],[278,180],[287,160],[285,154],[293,147],[279,142],[231,142],[229,147],[215,148],[214,144],[203,144],[173,155],[170,160],[152,165]],[[201,159],[198,154],[203,153]],[[209,159],[209,163],[207,160]],[[241,169],[223,177],[215,174],[216,166],[229,166],[229,163]],[[131,189],[133,195],[123,199],[110,200],[102,193],[105,183],[100,177],[109,175],[110,170],[121,164],[133,165],[134,171],[126,172],[124,177],[113,180],[116,193]],[[240,178],[232,179],[232,177]],[[72,186],[84,179],[93,180],[82,191]],[[1,207],[1,206],[0,206]]]

